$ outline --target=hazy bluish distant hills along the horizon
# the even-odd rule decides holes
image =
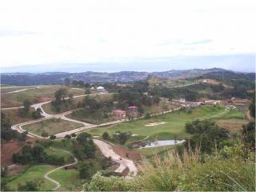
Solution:
[[[70,80],[81,80],[83,82],[136,82],[144,80],[149,76],[157,78],[177,78],[177,77],[194,77],[207,73],[218,73],[228,70],[212,68],[206,70],[169,70],[163,72],[138,72],[138,71],[121,71],[117,73],[100,73],[100,72],[82,72],[82,73],[8,73],[1,74],[1,83],[15,86],[34,86],[60,84],[65,78]],[[230,72],[234,73],[234,72]]]

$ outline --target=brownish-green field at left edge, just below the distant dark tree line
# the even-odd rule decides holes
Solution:
[[[46,102],[54,99],[54,92],[63,86],[42,86],[38,89],[24,90],[13,94],[2,94],[2,107],[22,106],[25,99],[29,99],[32,103]],[[74,90],[66,87],[69,94],[79,95],[84,94],[84,90]]]

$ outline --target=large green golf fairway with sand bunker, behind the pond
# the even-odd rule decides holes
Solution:
[[[226,118],[230,118],[234,114],[238,115],[236,111],[232,111],[230,116],[228,116],[229,113],[223,106],[202,106],[193,109],[192,114],[180,111],[154,116],[150,119],[139,119],[133,122],[122,122],[112,126],[98,127],[87,131],[98,136],[102,136],[105,131],[109,134],[114,134],[115,131],[131,131],[132,134],[138,134],[139,136],[149,136],[147,140],[154,140],[155,138],[159,140],[181,139],[187,136],[185,131],[186,122],[191,122],[195,119],[221,118],[222,115],[226,115]],[[240,115],[242,114],[240,113]],[[165,122],[165,124],[146,126],[152,122]]]

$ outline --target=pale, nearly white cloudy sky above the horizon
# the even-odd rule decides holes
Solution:
[[[254,0],[1,1],[1,71],[254,71],[255,10]]]

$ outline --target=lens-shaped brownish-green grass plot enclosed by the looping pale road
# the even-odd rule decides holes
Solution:
[[[22,128],[33,134],[41,135],[42,132],[46,131],[46,133],[51,135],[51,134],[58,134],[66,130],[74,130],[81,126],[83,125],[80,123],[51,118],[51,119],[44,120],[42,122],[35,122],[30,125],[22,126]]]

